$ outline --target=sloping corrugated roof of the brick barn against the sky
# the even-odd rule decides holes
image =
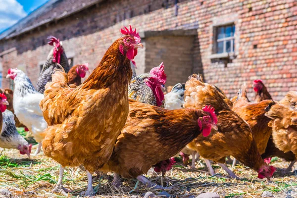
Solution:
[[[0,40],[9,39],[31,31],[51,21],[56,21],[86,9],[103,0],[49,0],[28,16],[0,34]]]

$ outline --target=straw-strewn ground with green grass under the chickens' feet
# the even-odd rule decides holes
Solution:
[[[19,132],[26,135],[22,129]],[[33,146],[32,153],[37,148],[36,146]],[[297,195],[297,173],[293,170],[290,175],[281,177],[280,169],[287,167],[289,163],[278,158],[272,160],[272,165],[279,170],[270,182],[266,179],[258,179],[255,171],[242,165],[237,165],[234,168],[236,175],[241,178],[238,181],[227,178],[224,170],[215,164],[213,167],[216,173],[223,177],[210,177],[203,160],[198,160],[196,165],[198,169],[182,166],[180,158],[177,158],[177,161],[173,169],[167,172],[163,178],[164,186],[174,185],[173,190],[166,190],[174,198],[188,198],[205,192],[216,192],[221,198],[239,198],[241,196],[258,198],[264,191],[272,192],[275,198],[286,198],[290,194],[292,197]],[[64,197],[50,192],[57,182],[59,166],[54,160],[46,157],[43,152],[28,159],[27,156],[20,155],[16,149],[5,149],[0,156],[0,166],[0,189],[8,189],[14,198]],[[152,176],[151,173],[148,173],[148,177],[151,181],[161,184],[160,176]],[[135,188],[136,179],[122,179],[123,185],[119,190],[115,190],[111,188],[111,174],[102,174],[95,180],[93,187],[97,192],[96,198],[129,198],[132,196],[141,198],[148,191],[155,195],[161,192],[146,189],[142,184]],[[80,168],[66,168],[63,183],[64,187],[74,190],[69,197],[77,198],[86,189],[87,175]],[[2,196],[0,197],[2,198]]]

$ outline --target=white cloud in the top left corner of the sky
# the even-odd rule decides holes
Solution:
[[[27,15],[16,0],[0,0],[0,5],[0,32]]]

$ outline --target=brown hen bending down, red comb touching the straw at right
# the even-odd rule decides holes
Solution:
[[[218,162],[232,177],[235,174],[224,164],[229,155],[257,171],[259,178],[272,177],[275,168],[261,158],[247,122],[230,109],[214,86],[203,83],[194,74],[186,83],[185,97],[185,108],[201,108],[209,104],[218,117],[218,130],[212,130],[207,137],[198,136],[189,148],[197,150],[203,158]]]

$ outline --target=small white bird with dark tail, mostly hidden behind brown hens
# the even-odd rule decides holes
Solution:
[[[184,104],[184,95],[185,95],[185,83],[184,84],[176,84],[171,92],[165,95],[165,108],[167,109],[178,109],[183,108]]]

